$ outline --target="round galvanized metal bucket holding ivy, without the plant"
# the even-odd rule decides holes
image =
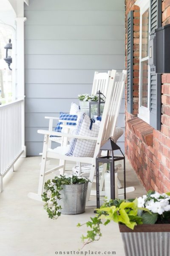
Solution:
[[[82,184],[63,185],[61,193],[62,214],[80,214],[85,212],[85,201],[88,189],[88,182]]]

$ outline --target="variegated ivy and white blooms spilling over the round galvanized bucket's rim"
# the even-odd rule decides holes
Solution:
[[[77,175],[59,175],[54,177],[52,180],[47,180],[44,185],[44,192],[41,195],[42,201],[45,202],[44,209],[48,213],[48,217],[51,219],[57,219],[62,209],[58,205],[57,201],[61,199],[61,190],[63,185],[69,184],[82,184],[89,180],[85,177],[80,177]]]

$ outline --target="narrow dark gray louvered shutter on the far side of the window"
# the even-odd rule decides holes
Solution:
[[[133,11],[127,16],[127,111],[133,113]]]

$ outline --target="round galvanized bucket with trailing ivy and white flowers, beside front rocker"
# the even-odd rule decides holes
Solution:
[[[44,185],[42,201],[48,217],[58,218],[62,214],[79,214],[85,212],[85,201],[89,180],[86,177],[58,175],[47,180]]]

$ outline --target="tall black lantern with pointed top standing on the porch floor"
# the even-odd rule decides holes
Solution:
[[[124,163],[124,198],[126,199],[126,180],[125,180],[125,156],[120,147],[114,143],[114,140],[110,137],[108,141],[101,146],[100,151],[107,151],[107,156],[96,157],[96,198],[97,208],[100,207],[99,203],[99,164],[107,163],[110,165],[110,177],[111,177],[111,199],[115,199],[115,162],[123,160]],[[120,150],[122,156],[114,156],[114,150]],[[100,152],[101,153],[101,152]],[[99,153],[99,155],[100,155]],[[116,188],[117,189],[117,188]]]

